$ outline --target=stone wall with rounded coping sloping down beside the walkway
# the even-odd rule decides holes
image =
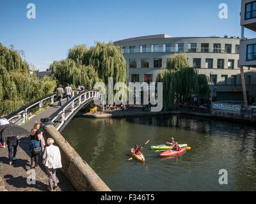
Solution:
[[[45,142],[52,138],[54,145],[60,148],[61,171],[77,191],[111,191],[54,126],[45,126],[43,135]]]

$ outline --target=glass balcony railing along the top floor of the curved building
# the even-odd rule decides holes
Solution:
[[[225,53],[225,54],[232,54],[227,52],[227,49],[223,48],[205,48],[205,47],[198,47],[198,48],[165,48],[158,47],[158,48],[125,48],[123,49],[123,54],[134,54],[134,53],[152,53],[152,52],[201,52],[201,53]]]

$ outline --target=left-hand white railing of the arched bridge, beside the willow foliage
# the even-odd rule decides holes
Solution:
[[[73,96],[76,92],[79,92],[79,91],[74,90]],[[46,105],[53,105],[55,96],[56,96],[56,92],[53,92],[52,94],[36,99],[35,101],[32,101],[31,103],[28,103],[27,105],[22,106],[18,110],[15,110],[14,112],[10,113],[5,118],[10,122],[12,122],[13,124],[18,124],[18,125],[24,124],[26,120],[31,119],[35,115],[34,114],[35,112],[29,112],[29,110],[31,109],[36,110],[38,108],[38,110],[41,111],[44,105],[44,101],[47,99],[51,99],[51,102],[46,103]],[[65,97],[63,97],[63,99],[64,98]]]

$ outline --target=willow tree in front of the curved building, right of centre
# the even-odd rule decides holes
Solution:
[[[182,101],[188,101],[193,94],[207,97],[207,79],[205,75],[198,75],[195,69],[189,67],[186,54],[174,55],[167,59],[166,67],[156,79],[156,82],[163,82],[164,110],[173,108]]]

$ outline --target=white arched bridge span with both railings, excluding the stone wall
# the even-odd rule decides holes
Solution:
[[[83,92],[75,90],[73,91],[73,98],[68,102],[66,102],[65,97],[62,99],[64,104],[61,107],[54,106],[55,99],[56,92],[22,106],[5,118],[17,125],[24,124],[24,126],[28,126],[30,124],[31,129],[33,128],[33,122],[40,121],[52,124],[58,131],[62,131],[79,110],[95,100],[101,100],[102,94],[96,90],[86,90]]]

